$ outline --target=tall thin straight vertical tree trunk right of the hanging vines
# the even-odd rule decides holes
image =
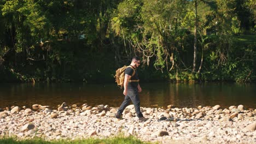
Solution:
[[[197,0],[195,0],[195,29],[194,29],[194,61],[193,61],[193,72],[195,71],[195,67],[196,67],[196,41],[197,41]]]

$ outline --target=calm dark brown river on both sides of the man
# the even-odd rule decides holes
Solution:
[[[256,84],[240,83],[141,83],[141,106],[197,107],[244,105],[256,109]],[[115,84],[86,83],[0,83],[0,108],[49,105],[109,105],[119,107],[123,91]]]

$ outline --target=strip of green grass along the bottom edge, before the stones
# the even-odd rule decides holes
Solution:
[[[45,141],[43,139],[30,139],[30,140],[18,140],[15,139],[13,137],[2,137],[0,138],[0,143],[1,144],[25,144],[25,143],[51,143],[51,144],[59,144],[59,143],[72,143],[72,144],[80,144],[80,143],[106,143],[106,144],[110,144],[110,143],[148,143],[148,142],[142,142],[141,140],[138,140],[136,137],[133,136],[129,136],[129,137],[113,137],[113,138],[107,138],[107,139],[82,139],[82,140],[53,140],[53,141]]]

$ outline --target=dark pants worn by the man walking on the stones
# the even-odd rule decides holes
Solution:
[[[132,101],[135,111],[137,113],[137,117],[143,117],[141,113],[141,102],[139,101],[139,95],[137,89],[128,89],[127,94],[125,95],[125,99],[118,110],[118,115],[121,115],[126,106],[129,105],[130,101]]]

